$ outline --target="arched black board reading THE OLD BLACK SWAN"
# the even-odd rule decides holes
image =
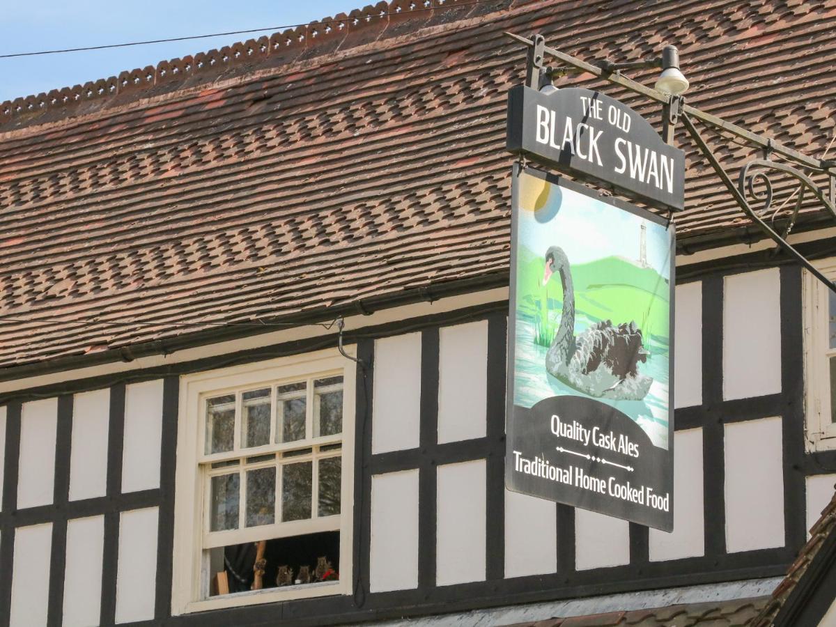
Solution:
[[[508,92],[507,149],[639,198],[684,206],[685,154],[618,100],[579,87]]]

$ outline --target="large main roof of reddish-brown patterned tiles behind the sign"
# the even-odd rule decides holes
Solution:
[[[507,282],[505,98],[525,55],[506,30],[584,59],[675,43],[691,104],[808,154],[833,133],[836,0],[415,4],[0,106],[0,375]],[[678,140],[681,243],[739,235]]]

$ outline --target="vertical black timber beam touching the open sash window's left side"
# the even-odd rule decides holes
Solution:
[[[162,445],[160,452],[160,514],[157,528],[155,619],[171,615],[171,568],[174,559],[174,497],[177,453],[177,416],[180,377],[167,376],[162,388]]]

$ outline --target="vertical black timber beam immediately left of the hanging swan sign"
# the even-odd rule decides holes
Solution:
[[[505,577],[505,314],[487,319],[486,579]]]

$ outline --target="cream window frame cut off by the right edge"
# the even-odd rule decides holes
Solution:
[[[836,280],[836,257],[814,263],[826,277]],[[803,270],[803,345],[805,391],[805,446],[807,451],[836,449],[836,422],[831,418],[830,364],[836,349],[829,349],[828,288]]]

